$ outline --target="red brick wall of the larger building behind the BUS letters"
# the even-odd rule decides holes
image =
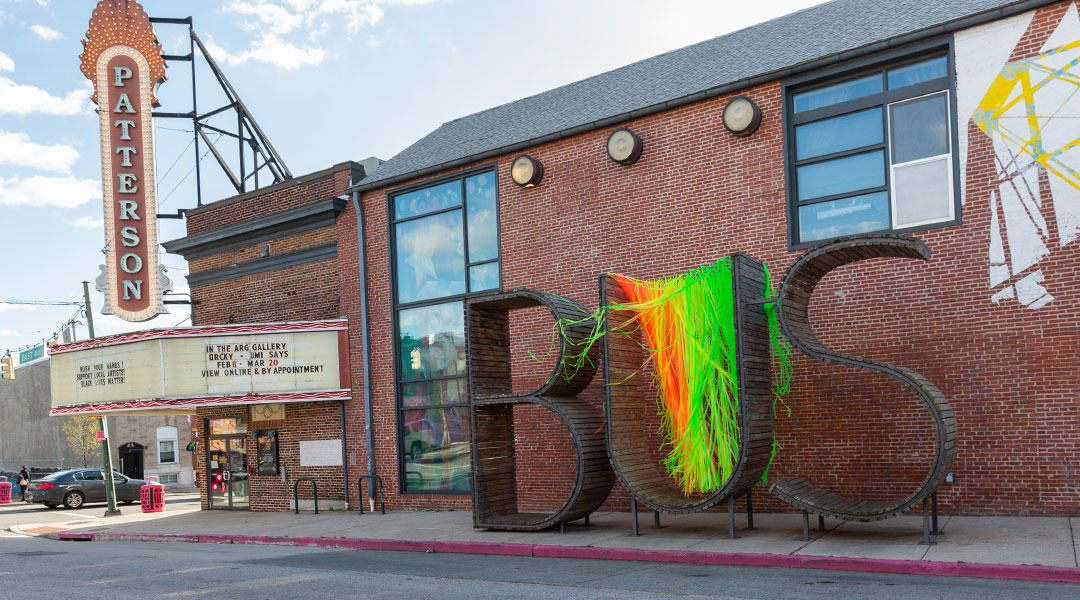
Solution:
[[[1044,9],[1029,35],[1049,33],[1066,4]],[[1041,29],[1040,29],[1041,28]],[[1041,33],[1040,33],[1041,31]],[[1032,42],[1035,52],[1041,42]],[[1026,47],[1026,46],[1025,46]],[[728,97],[626,123],[645,140],[640,161],[621,166],[605,154],[613,127],[528,150],[544,165],[534,189],[509,177],[514,154],[499,156],[503,289],[532,287],[597,304],[597,275],[657,277],[684,272],[743,250],[766,261],[773,281],[799,256],[788,251],[779,83],[740,94],[762,109],[748,138],[720,121]],[[961,128],[967,123],[961,124]],[[987,286],[989,191],[996,189],[993,150],[971,128],[963,223],[919,232],[933,250],[926,262],[881,259],[841,268],[815,294],[812,322],[836,350],[913,368],[949,398],[960,427],[956,479],[941,490],[947,514],[1075,514],[1080,510],[1080,346],[1076,325],[1080,244],[1040,263],[1054,282],[1054,302],[1038,311],[996,304]],[[981,137],[982,136],[982,137]],[[490,162],[490,161],[485,161]],[[477,163],[484,164],[485,162]],[[465,167],[462,167],[465,168]],[[449,173],[449,172],[448,172]],[[442,174],[440,174],[442,175]],[[464,508],[457,496],[397,494],[388,256],[387,190],[363,194],[367,217],[368,281],[377,463],[393,508]],[[341,309],[359,324],[355,216],[339,219]],[[1074,294],[1069,294],[1074,292]],[[522,324],[546,349],[544,326]],[[360,327],[351,331],[353,384],[361,397]],[[535,377],[540,367],[518,357]],[[902,497],[932,461],[929,413],[899,382],[868,371],[793,357],[795,385],[778,409],[780,454],[770,481],[799,475],[865,500]],[[598,399],[594,382],[584,394]],[[350,439],[361,440],[362,407],[353,403]],[[565,435],[542,410],[517,411],[518,452],[527,504],[552,506],[569,477]],[[355,444],[356,471],[363,447]],[[609,507],[625,507],[621,490]],[[764,509],[785,509],[764,488]]]

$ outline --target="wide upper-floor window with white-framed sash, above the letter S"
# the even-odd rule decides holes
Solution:
[[[922,55],[785,86],[794,246],[959,220],[950,72]]]

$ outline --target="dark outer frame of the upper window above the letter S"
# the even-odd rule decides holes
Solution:
[[[945,86],[940,85],[941,78],[931,80],[929,82],[921,82],[914,85],[908,85],[900,87],[896,90],[888,88],[888,70],[896,67],[902,67],[907,64],[918,63],[919,60],[924,60],[927,58],[932,58],[934,56],[945,56],[946,57],[946,76],[945,76]],[[875,71],[879,71],[882,74],[882,92],[880,94],[875,94],[873,96],[864,96],[861,98],[855,98],[852,100],[847,100],[836,105],[804,111],[796,117],[794,108],[794,95],[800,92],[806,92],[815,87],[824,87],[826,85],[832,85],[835,83],[842,83],[845,81],[851,81],[865,77]],[[892,144],[891,144],[891,131],[890,131],[890,106],[899,103],[909,101],[919,97],[929,96],[935,93],[945,92],[947,95],[946,108],[948,121],[948,135],[949,135],[949,185],[953,191],[953,205],[951,214],[953,218],[948,220],[934,220],[930,222],[920,222],[917,224],[912,224],[904,228],[895,228],[892,224],[895,222],[895,202],[894,202],[894,190],[892,187],[893,178],[892,173],[894,171],[894,165],[892,164]],[[783,136],[784,136],[784,188],[785,188],[785,202],[786,202],[786,227],[787,227],[787,249],[788,250],[799,250],[806,248],[812,248],[824,244],[833,237],[825,237],[822,240],[813,240],[809,242],[804,242],[799,238],[799,206],[808,206],[819,202],[828,202],[831,200],[838,200],[843,197],[852,197],[855,195],[877,193],[880,191],[886,191],[889,194],[889,224],[887,229],[881,229],[877,231],[866,231],[861,233],[853,233],[849,235],[840,236],[840,238],[847,238],[854,235],[866,235],[874,233],[886,233],[886,234],[904,234],[912,233],[916,231],[926,231],[930,229],[939,229],[945,227],[954,227],[963,223],[962,215],[962,196],[961,196],[961,181],[960,181],[960,137],[959,137],[959,118],[957,112],[957,94],[956,94],[956,53],[953,43],[951,36],[945,36],[941,38],[935,38],[931,40],[926,40],[917,44],[910,44],[901,49],[895,49],[873,56],[867,56],[864,58],[859,58],[855,60],[847,62],[842,65],[836,65],[825,69],[819,69],[810,73],[805,73],[801,76],[793,77],[781,82],[781,101],[783,107]],[[852,112],[858,112],[860,110],[867,110],[874,107],[881,107],[882,110],[882,126],[883,126],[883,137],[879,145],[864,146],[853,150],[843,150],[840,152],[834,152],[832,154],[823,154],[821,156],[814,156],[811,159],[804,159],[801,161],[796,161],[795,158],[795,127],[806,123],[816,122],[823,119],[828,119],[832,117],[839,117],[841,114],[850,114]],[[809,117],[809,118],[808,118]],[[846,155],[856,155],[867,152],[874,152],[881,149],[885,152],[885,185],[876,188],[868,188],[866,190],[856,190],[852,192],[846,192],[842,194],[835,194],[829,196],[821,196],[812,199],[812,202],[800,203],[798,200],[798,188],[797,188],[797,168],[805,164],[812,164],[823,162],[829,159],[838,159]],[[912,163],[904,163],[913,164]]]

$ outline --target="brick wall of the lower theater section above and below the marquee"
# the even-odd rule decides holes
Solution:
[[[295,208],[303,204],[339,196],[349,183],[351,168],[342,166],[325,177],[311,181],[279,187],[265,194],[254,194],[239,201],[224,201],[213,208],[188,218],[188,234],[204,233],[254,217]],[[235,262],[259,258],[262,245],[269,243],[273,255],[333,243],[337,238],[334,227],[297,235],[282,233],[278,238],[260,242],[238,250],[229,250],[190,261],[192,274]],[[354,243],[355,245],[355,243]],[[353,260],[355,262],[355,259]],[[319,321],[341,316],[338,301],[338,261],[327,258],[296,264],[274,271],[245,275],[213,284],[193,286],[195,325],[229,323],[271,323],[284,321]],[[359,364],[359,363],[357,363]],[[352,404],[352,403],[347,403]],[[287,474],[280,476],[257,475],[255,440],[247,436],[248,464],[251,466],[252,510],[287,510],[297,477],[314,477],[319,485],[320,501],[345,500],[345,473],[340,466],[300,467],[300,440],[340,439],[341,413],[338,403],[295,403],[285,405],[284,423],[275,424],[279,461]],[[201,432],[205,420],[221,417],[243,417],[252,428],[247,406],[215,407],[198,410]],[[205,481],[205,444],[199,445],[201,481]],[[353,490],[355,486],[353,486]],[[201,486],[203,508],[206,508],[206,486]],[[300,499],[311,500],[311,486],[300,485]],[[326,505],[323,505],[326,507]]]

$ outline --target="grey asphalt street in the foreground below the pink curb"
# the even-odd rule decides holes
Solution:
[[[289,546],[58,542],[0,533],[0,577],[72,598],[1076,599],[1080,585],[806,569],[325,550]]]

